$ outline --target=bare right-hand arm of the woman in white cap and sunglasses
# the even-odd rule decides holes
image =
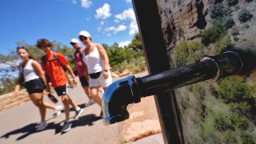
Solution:
[[[109,76],[108,70],[110,70],[110,60],[109,60],[109,57],[106,53],[105,48],[101,44],[96,44],[96,46],[98,47],[98,52],[99,52],[99,54],[102,57],[103,62],[104,62],[103,74],[104,74],[104,78],[106,79]]]

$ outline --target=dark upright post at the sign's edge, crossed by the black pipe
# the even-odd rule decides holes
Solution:
[[[143,51],[150,74],[170,70],[156,0],[133,0]],[[182,124],[174,90],[154,96],[165,143],[183,143]]]

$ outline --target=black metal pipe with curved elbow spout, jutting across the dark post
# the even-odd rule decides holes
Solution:
[[[182,68],[166,70],[159,74],[135,78],[130,75],[113,82],[102,98],[103,123],[121,122],[129,118],[126,106],[141,98],[188,86],[206,80],[216,81],[233,74],[244,74],[254,66],[241,51],[226,51],[217,56],[202,58],[201,62]]]

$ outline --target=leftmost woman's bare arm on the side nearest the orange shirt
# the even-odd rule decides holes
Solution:
[[[45,71],[42,70],[42,66],[35,60],[33,60],[32,66],[34,68],[34,71],[38,74],[38,76],[42,79],[42,82],[45,84],[46,91],[50,92],[49,81],[46,80],[46,74]]]

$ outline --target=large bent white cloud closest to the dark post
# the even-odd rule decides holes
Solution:
[[[129,29],[130,29],[129,34],[130,35],[133,35],[133,34],[138,32],[138,25],[137,25],[137,22],[136,22],[136,17],[135,17],[135,14],[134,14],[134,10],[132,10],[132,9],[124,10],[122,12],[122,14],[116,14],[116,15],[114,15],[114,17],[117,18],[120,21],[130,20],[130,27],[129,27]]]

